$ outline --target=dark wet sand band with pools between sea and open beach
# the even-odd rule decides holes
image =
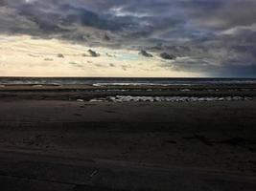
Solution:
[[[89,101],[105,96],[248,96],[256,97],[255,84],[210,84],[169,86],[92,85],[0,85],[1,100],[77,100]]]

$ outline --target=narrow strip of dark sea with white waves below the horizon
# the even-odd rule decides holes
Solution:
[[[0,77],[0,84],[64,85],[207,85],[207,84],[255,84],[256,78],[113,78],[113,77]]]

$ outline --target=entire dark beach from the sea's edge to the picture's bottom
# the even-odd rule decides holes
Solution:
[[[2,84],[0,190],[254,191],[255,90]]]

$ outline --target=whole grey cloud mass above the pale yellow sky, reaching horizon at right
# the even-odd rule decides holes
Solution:
[[[0,32],[179,57],[176,71],[256,76],[256,0],[0,0]]]

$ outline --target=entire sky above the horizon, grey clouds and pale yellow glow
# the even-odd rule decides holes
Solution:
[[[0,0],[1,76],[256,77],[256,0]]]

